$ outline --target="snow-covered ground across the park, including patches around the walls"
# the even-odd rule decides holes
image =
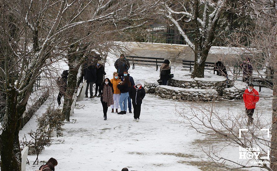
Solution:
[[[113,66],[115,57],[109,58],[106,63],[108,78],[112,78],[115,71]],[[173,65],[171,72],[175,76],[188,75],[188,71],[181,71],[181,67]],[[130,75],[134,80],[156,81],[159,72],[155,67],[135,66],[130,69]],[[215,76],[211,72],[205,72],[207,76]],[[267,114],[270,118],[271,99],[268,98],[271,90],[262,88],[261,98],[257,104],[257,112]],[[41,109],[39,116],[44,113],[47,105],[53,99],[56,103],[57,94],[50,96]],[[221,146],[223,142],[214,142],[214,137],[204,137],[194,130],[182,127],[177,121],[181,121],[176,110],[182,109],[188,102],[179,102],[169,99],[161,99],[155,95],[147,94],[143,100],[142,112],[139,122],[133,122],[133,114],[118,115],[110,113],[108,109],[107,120],[103,120],[100,98],[85,99],[77,102],[77,105],[85,104],[83,109],[75,109],[71,118],[76,123],[64,125],[63,144],[52,144],[45,147],[39,156],[39,161],[47,161],[50,157],[58,160],[57,171],[117,171],[124,167],[133,171],[190,171],[190,170],[224,170],[216,167],[204,155],[201,146],[211,144]],[[57,105],[57,104],[56,104]],[[197,104],[195,104],[197,105]],[[242,101],[215,102],[219,111],[223,111],[228,105],[232,105],[233,112],[242,112]],[[269,111],[264,113],[262,111]],[[20,137],[35,129],[36,116],[24,126]],[[238,147],[228,149],[226,155],[231,159],[238,159]],[[35,160],[35,155],[28,156],[30,164]],[[39,166],[27,165],[28,171],[35,171]]]

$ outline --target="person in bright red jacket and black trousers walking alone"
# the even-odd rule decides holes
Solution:
[[[256,108],[256,103],[259,101],[259,93],[254,89],[253,84],[249,84],[248,88],[244,91],[243,101],[245,104],[245,112],[248,116],[248,124],[253,123],[253,113]]]

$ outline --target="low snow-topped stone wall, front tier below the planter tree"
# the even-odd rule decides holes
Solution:
[[[155,88],[155,94],[166,99],[177,99],[185,101],[215,101],[217,91],[214,89],[185,89],[159,85]]]

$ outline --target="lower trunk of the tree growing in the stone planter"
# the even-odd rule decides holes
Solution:
[[[201,45],[195,44],[194,66],[191,73],[191,78],[204,78],[205,62],[209,53],[209,49],[200,48]]]

